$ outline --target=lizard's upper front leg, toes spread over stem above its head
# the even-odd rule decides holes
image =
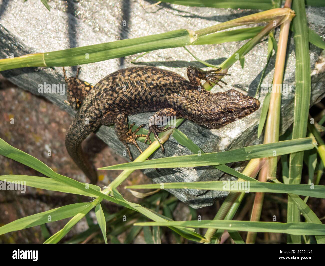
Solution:
[[[188,80],[195,85],[199,86],[199,85],[201,85],[201,80],[205,80],[205,81],[209,82],[209,84],[211,86],[213,86],[213,84],[211,84],[211,82],[214,82],[220,88],[222,88],[222,86],[218,82],[221,81],[222,83],[224,83],[226,85],[227,85],[227,83],[222,81],[221,79],[219,79],[218,76],[231,76],[231,74],[218,73],[220,70],[221,70],[221,68],[216,69],[216,70],[204,71],[204,70],[201,70],[200,68],[188,67],[187,76],[188,76]]]

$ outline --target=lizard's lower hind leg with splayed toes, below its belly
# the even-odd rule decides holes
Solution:
[[[137,149],[142,153],[143,151],[139,147],[139,145],[136,143],[136,139],[139,137],[147,137],[145,134],[138,134],[136,133],[144,126],[140,125],[135,131],[132,132],[132,128],[135,125],[135,123],[132,123],[130,128],[128,127],[127,123],[127,115],[125,115],[122,112],[119,111],[111,111],[106,113],[102,119],[101,119],[102,124],[104,125],[111,125],[115,123],[115,132],[119,138],[120,141],[124,144],[126,147],[126,150],[129,154],[130,160],[133,161],[132,155],[130,148],[128,144],[132,144],[137,147]]]

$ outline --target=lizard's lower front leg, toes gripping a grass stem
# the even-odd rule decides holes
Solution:
[[[159,110],[158,112],[156,112],[149,119],[149,133],[145,140],[145,143],[147,143],[147,141],[149,140],[149,142],[151,144],[151,140],[150,140],[149,136],[150,136],[150,133],[152,132],[155,135],[155,138],[158,140],[158,142],[162,148],[162,152],[164,153],[165,149],[164,149],[162,142],[158,136],[158,133],[167,131],[167,130],[175,127],[175,126],[169,126],[169,127],[165,128],[165,126],[168,123],[168,120],[173,122],[176,120],[176,118],[181,118],[181,117],[182,117],[181,113],[174,110],[173,108],[165,108],[165,109],[162,109],[162,110]],[[158,125],[162,125],[162,127],[158,127]]]

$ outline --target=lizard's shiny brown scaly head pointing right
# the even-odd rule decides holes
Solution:
[[[203,126],[220,128],[255,112],[260,101],[236,90],[212,93],[204,109]]]

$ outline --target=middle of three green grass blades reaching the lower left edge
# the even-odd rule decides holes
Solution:
[[[95,197],[96,195],[85,192],[78,188],[62,184],[62,182],[56,181],[52,178],[41,177],[41,176],[29,176],[29,175],[0,175],[1,181],[6,182],[26,182],[26,186],[37,187],[41,189],[47,189],[52,191],[60,191],[65,193],[72,193],[84,196]],[[86,186],[85,183],[82,183]],[[89,184],[90,187],[100,191],[100,187],[97,185]]]

